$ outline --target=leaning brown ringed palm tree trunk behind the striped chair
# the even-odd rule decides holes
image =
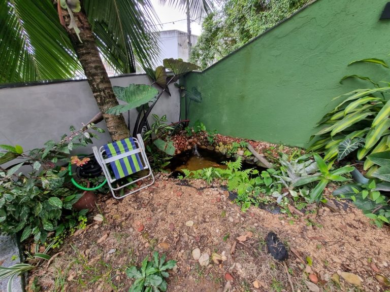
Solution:
[[[68,26],[70,23],[70,15],[66,10],[62,10],[62,14],[65,23]],[[129,131],[123,116],[105,114],[107,109],[118,105],[118,100],[114,95],[106,68],[103,65],[98,48],[96,47],[88,18],[83,11],[74,13],[74,17],[77,26],[80,29],[80,39],[82,40],[82,43],[80,43],[74,29],[68,29],[73,48],[83,66],[85,76],[87,77],[96,103],[98,103],[99,109],[103,114],[111,138],[114,141],[124,139],[129,136]]]

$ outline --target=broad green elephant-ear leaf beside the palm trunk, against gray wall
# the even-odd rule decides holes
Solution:
[[[127,104],[117,105],[108,109],[106,114],[110,115],[120,115],[121,113],[125,113],[132,108],[149,102],[156,96],[156,94],[158,94],[157,89],[145,84],[130,84],[127,87],[114,86],[113,90],[115,96],[118,99],[127,102]]]

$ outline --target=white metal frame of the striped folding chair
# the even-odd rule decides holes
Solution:
[[[104,158],[104,153],[106,152],[104,150],[104,146],[100,147],[99,150],[98,150],[98,147],[94,146],[92,147],[92,151],[93,151],[93,154],[96,158],[96,161],[98,161],[99,165],[102,167],[103,169],[103,173],[104,175],[106,176],[107,178],[107,184],[108,186],[110,187],[110,190],[111,190],[111,193],[113,195],[113,197],[115,199],[122,199],[128,195],[131,195],[131,194],[134,194],[138,191],[141,191],[142,189],[145,189],[147,187],[150,187],[151,185],[154,184],[154,175],[153,175],[153,172],[152,172],[152,168],[150,167],[150,164],[149,164],[149,160],[148,158],[146,157],[146,152],[145,152],[145,144],[144,144],[144,141],[142,140],[142,137],[140,134],[137,134],[137,138],[133,138],[136,146],[137,146],[137,149],[136,150],[132,150],[132,151],[129,151],[129,152],[126,152],[126,153],[123,153],[123,154],[119,154],[117,156],[113,156],[111,158]],[[107,167],[107,165],[110,163],[110,162],[113,162],[113,161],[116,161],[116,160],[119,160],[121,158],[124,158],[124,157],[127,157],[127,156],[132,156],[134,154],[137,154],[137,153],[140,153],[141,154],[141,157],[142,157],[142,160],[143,160],[143,166],[144,166],[144,169],[143,170],[146,170],[146,169],[149,169],[149,173],[143,177],[140,177],[140,178],[137,178],[136,180],[133,180],[131,182],[128,182],[128,184],[125,184],[123,186],[120,186],[120,187],[117,187],[117,188],[114,188],[112,186],[112,183],[117,181],[118,179],[116,179],[115,177],[112,178],[111,174],[110,174],[110,171]],[[138,171],[139,172],[139,171]],[[137,172],[135,172],[137,173]],[[134,173],[132,173],[134,174]],[[152,182],[149,184],[149,185],[146,185],[142,188],[138,188],[136,190],[131,190],[130,192],[128,192],[127,194],[124,194],[123,196],[120,196],[120,197],[117,197],[115,195],[115,191],[117,190],[120,190],[120,189],[123,189],[129,185],[132,185],[132,184],[135,184],[137,181],[141,180],[141,179],[144,179],[144,178],[147,178],[151,176],[152,177]],[[123,177],[124,178],[124,177]]]

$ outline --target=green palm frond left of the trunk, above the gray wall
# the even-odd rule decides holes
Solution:
[[[0,0],[0,83],[81,73],[51,0]]]

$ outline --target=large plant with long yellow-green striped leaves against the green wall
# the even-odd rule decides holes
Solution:
[[[363,59],[349,65],[359,62],[380,64],[388,68],[379,59]],[[333,99],[345,98],[318,123],[322,129],[311,137],[314,140],[308,148],[309,151],[324,152],[325,160],[341,160],[355,150],[358,150],[357,158],[362,160],[370,153],[390,149],[390,103],[385,98],[390,87],[388,84],[380,87],[370,78],[358,75],[345,76],[341,81],[347,78],[369,81],[373,87],[356,89]],[[365,161],[365,170],[372,166],[370,160]],[[375,169],[372,168],[370,173]]]

